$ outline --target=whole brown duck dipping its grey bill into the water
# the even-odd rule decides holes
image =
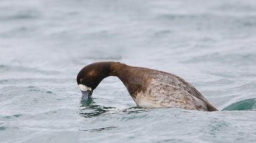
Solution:
[[[93,90],[108,76],[116,76],[123,82],[138,107],[218,111],[193,85],[179,76],[113,61],[94,62],[79,71],[77,85],[82,99],[91,98]]]

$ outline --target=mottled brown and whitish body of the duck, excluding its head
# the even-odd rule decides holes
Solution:
[[[218,111],[193,85],[179,76],[150,68],[132,67],[119,62],[99,63],[108,64],[106,77],[117,76],[139,107],[177,107],[187,110]]]

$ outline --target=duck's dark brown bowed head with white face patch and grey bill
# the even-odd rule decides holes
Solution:
[[[82,91],[82,99],[91,97],[93,90],[99,83],[108,76],[112,75],[113,65],[120,64],[119,62],[95,62],[87,65],[79,71],[77,75],[77,84]]]

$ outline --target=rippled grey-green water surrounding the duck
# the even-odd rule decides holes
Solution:
[[[216,108],[139,108],[96,61],[168,71]],[[256,2],[0,1],[0,142],[255,142]]]

